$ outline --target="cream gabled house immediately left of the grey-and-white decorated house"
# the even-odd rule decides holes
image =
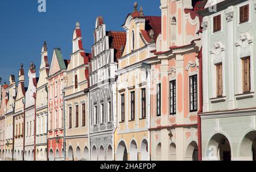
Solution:
[[[73,51],[64,85],[66,160],[90,160],[89,149],[89,59],[82,48],[80,24],[73,32]]]

